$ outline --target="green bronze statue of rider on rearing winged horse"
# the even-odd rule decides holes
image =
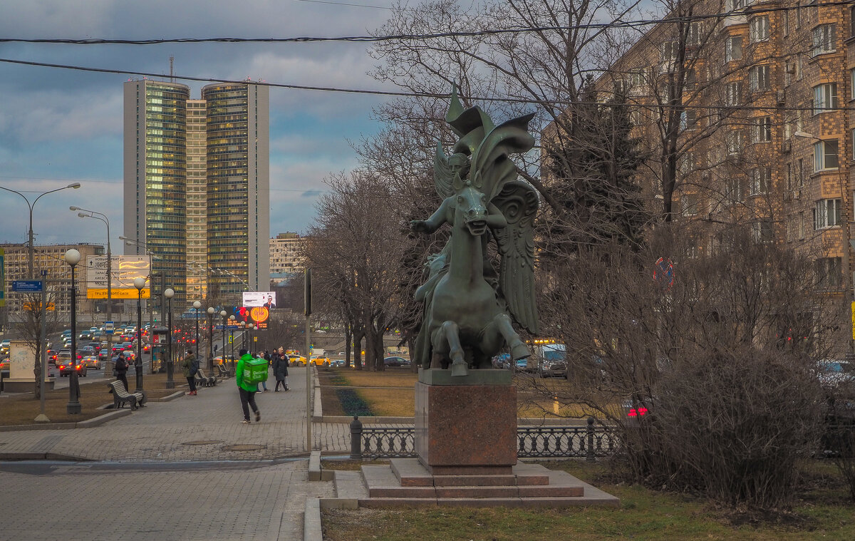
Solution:
[[[433,233],[444,223],[451,238],[428,258],[428,279],[416,290],[425,303],[415,360],[423,368],[447,368],[465,376],[469,368],[489,368],[504,347],[514,360],[531,352],[513,328],[511,317],[533,334],[538,332],[534,301],[534,215],[538,196],[516,180],[511,153],[534,146],[528,122],[521,116],[495,126],[479,107],[463,110],[452,87],[445,116],[459,137],[454,153],[441,145],[434,158],[433,180],[443,199],[427,220],[411,229]],[[501,256],[498,276],[486,258],[492,237]]]

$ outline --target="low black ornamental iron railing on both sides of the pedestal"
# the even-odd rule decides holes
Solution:
[[[520,426],[516,429],[520,458],[585,458],[594,461],[613,455],[617,440],[593,418],[587,426]],[[413,426],[363,426],[358,417],[351,422],[351,459],[416,456]]]

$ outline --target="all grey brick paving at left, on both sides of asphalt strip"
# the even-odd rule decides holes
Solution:
[[[0,432],[0,453],[85,460],[0,462],[0,538],[303,538],[306,497],[334,488],[288,458],[308,455],[305,369],[289,372],[292,390],[256,395],[251,425],[231,378],[93,428]],[[312,432],[325,454],[350,449],[346,424]]]

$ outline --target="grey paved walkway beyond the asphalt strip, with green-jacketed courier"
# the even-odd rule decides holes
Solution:
[[[240,461],[307,455],[305,368],[289,368],[290,391],[258,393],[260,423],[240,423],[234,378],[197,396],[150,402],[131,415],[93,428],[0,432],[0,453],[55,453],[92,461]],[[133,383],[132,383],[133,386]],[[104,402],[109,394],[104,391]],[[2,415],[0,411],[0,415]],[[350,452],[347,424],[313,424],[314,447]],[[234,447],[238,446],[238,447]]]

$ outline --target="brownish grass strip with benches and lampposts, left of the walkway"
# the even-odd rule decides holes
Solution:
[[[80,378],[85,381],[85,378]],[[180,387],[186,379],[174,379],[176,387]],[[133,375],[127,378],[128,388],[135,389]],[[166,374],[145,374],[143,377],[143,388],[149,398],[158,398],[171,395],[175,390],[166,389]],[[80,414],[69,415],[66,413],[68,405],[68,388],[49,390],[44,394],[44,413],[51,423],[74,423],[86,419],[92,419],[98,415],[107,413],[99,406],[113,402],[113,395],[107,389],[107,383],[85,383],[80,385]],[[41,411],[41,402],[35,400],[31,395],[3,395],[0,397],[0,425],[34,425],[33,419]]]

